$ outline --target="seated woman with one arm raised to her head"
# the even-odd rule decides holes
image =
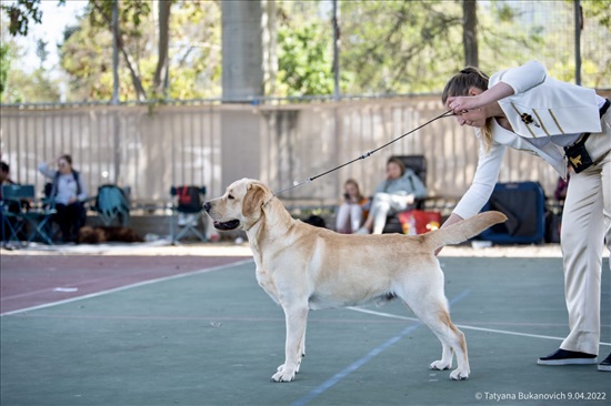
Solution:
[[[53,171],[49,163],[38,166],[40,173],[52,180],[49,199],[56,204],[54,221],[61,229],[62,242],[76,242],[79,229],[84,225],[83,202],[87,191],[80,173],[72,169],[72,156],[63,154],[57,159],[58,170]]]

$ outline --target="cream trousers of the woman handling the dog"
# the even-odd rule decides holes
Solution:
[[[595,164],[571,174],[561,231],[570,333],[560,348],[597,355],[604,240],[611,251],[611,110],[601,124],[585,142]]]

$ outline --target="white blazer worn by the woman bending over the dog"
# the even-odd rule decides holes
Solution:
[[[562,148],[553,142],[540,146],[528,139],[602,131],[594,90],[549,78],[545,68],[537,61],[494,73],[489,87],[499,82],[514,91],[513,95],[499,101],[513,132],[492,120],[492,145],[485,151],[481,131],[475,129],[480,140],[478,168],[471,186],[453,211],[462,219],[478,214],[490,199],[508,146],[540,156],[565,177]]]

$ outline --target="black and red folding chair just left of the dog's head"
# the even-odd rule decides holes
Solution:
[[[207,242],[204,234],[198,229],[200,219],[206,213],[203,210],[202,196],[206,195],[206,186],[172,186],[170,189],[170,195],[174,199],[172,203],[172,219],[170,223],[170,233],[172,235],[172,244],[177,244],[180,238],[191,233],[200,238],[202,242]],[[182,230],[177,233],[178,216],[188,215],[188,219],[182,225]],[[204,222],[201,222],[202,225]]]

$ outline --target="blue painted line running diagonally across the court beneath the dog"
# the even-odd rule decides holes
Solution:
[[[450,301],[450,306],[453,306],[455,303],[460,302],[464,297],[469,296],[470,291],[463,291],[460,295],[455,296]],[[333,387],[337,383],[345,378],[348,375],[352,374],[354,371],[359,369],[361,366],[373,359],[378,354],[382,353],[384,349],[390,347],[391,345],[399,342],[401,338],[405,337],[407,335],[414,332],[418,327],[422,326],[422,322],[417,322],[415,324],[412,324],[411,326],[403,329],[401,333],[399,333],[397,336],[390,338],[385,343],[377,346],[372,351],[370,351],[365,356],[363,356],[360,359],[357,359],[335,375],[333,375],[331,378],[323,382],[320,386],[312,389],[309,394],[303,396],[302,398],[293,402],[291,406],[304,406],[314,398],[317,398],[319,395],[322,395],[324,392]]]

